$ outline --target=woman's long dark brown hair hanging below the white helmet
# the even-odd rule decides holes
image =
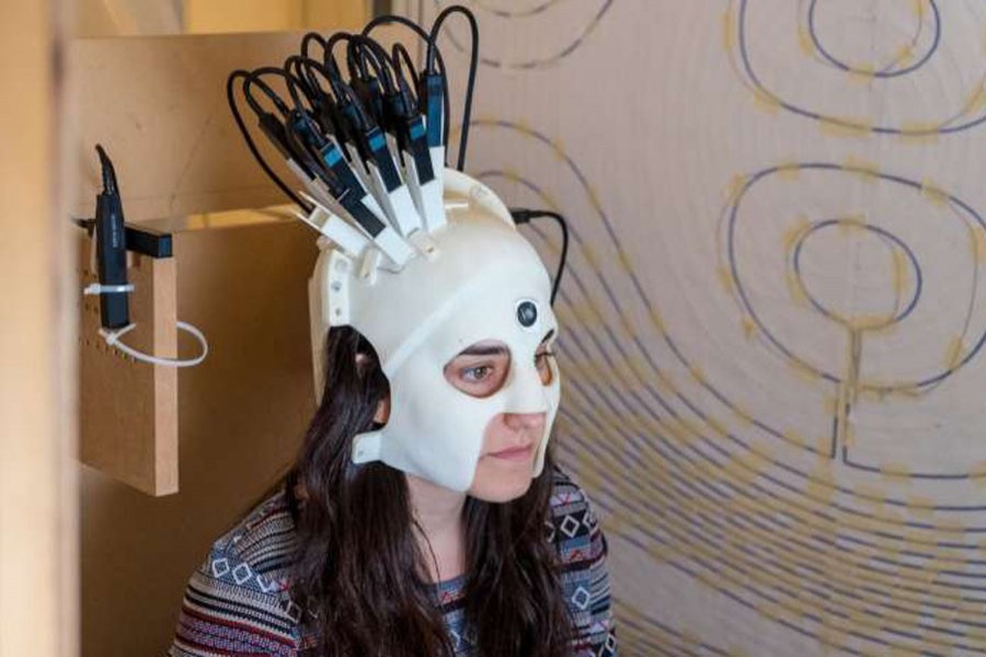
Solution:
[[[293,597],[308,610],[319,655],[446,657],[445,629],[404,474],[351,464],[353,438],[389,394],[377,355],[357,331],[333,327],[322,403],[285,480],[297,527]],[[468,497],[465,613],[484,657],[562,657],[572,622],[558,553],[547,540],[554,466],[507,504]]]

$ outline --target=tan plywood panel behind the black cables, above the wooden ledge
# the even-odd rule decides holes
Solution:
[[[100,184],[96,143],[113,158],[128,221],[279,203],[283,195],[237,129],[226,79],[234,69],[284,61],[300,38],[271,33],[74,41],[81,184],[73,214],[92,214]],[[276,162],[273,149],[260,143]]]

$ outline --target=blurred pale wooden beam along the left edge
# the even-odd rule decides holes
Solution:
[[[59,165],[69,0],[8,2],[0,21],[0,655],[78,650],[70,182]],[[14,97],[15,96],[15,97]]]

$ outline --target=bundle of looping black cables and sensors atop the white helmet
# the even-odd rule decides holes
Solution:
[[[434,246],[428,233],[446,222],[443,171],[449,137],[449,94],[437,45],[446,20],[462,14],[472,31],[462,131],[457,168],[466,161],[479,31],[468,9],[443,11],[431,31],[403,16],[371,21],[359,34],[306,34],[300,53],[280,67],[233,71],[227,97],[251,153],[275,184],[301,209],[299,219],[352,255],[372,243],[402,267]],[[424,66],[414,66],[406,47],[387,47],[372,37],[385,24],[411,30],[425,45]],[[340,60],[344,66],[340,65]],[[271,81],[279,79],[287,94]],[[264,160],[248,129],[237,97],[255,115],[305,192],[296,194]]]

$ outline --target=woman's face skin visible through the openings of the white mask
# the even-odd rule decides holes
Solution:
[[[541,383],[552,379],[548,343],[552,333],[541,341],[535,365]],[[461,392],[475,397],[496,393],[511,370],[511,353],[497,341],[477,343],[445,366],[445,378]],[[509,502],[530,487],[535,457],[544,433],[544,413],[500,413],[483,431],[483,447],[475,468],[469,495],[484,502]]]

